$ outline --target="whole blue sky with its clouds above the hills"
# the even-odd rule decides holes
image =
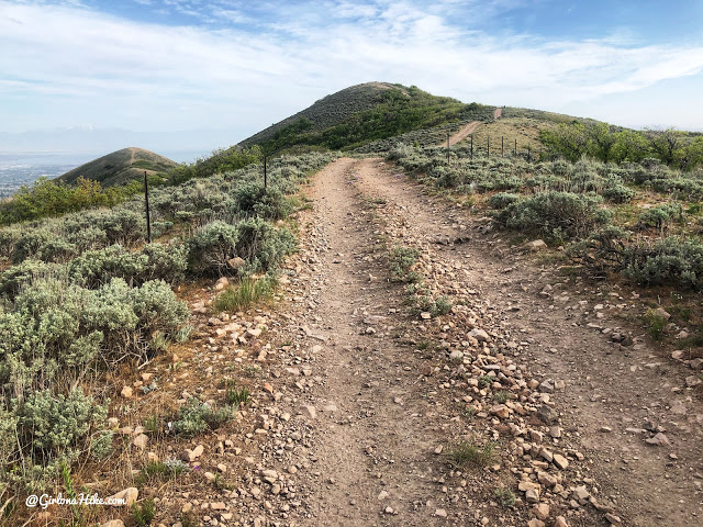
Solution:
[[[0,0],[0,150],[67,127],[226,146],[371,80],[703,131],[701,1]]]

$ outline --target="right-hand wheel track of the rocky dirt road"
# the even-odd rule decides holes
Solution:
[[[437,246],[436,258],[469,269],[467,287],[477,289],[502,312],[507,326],[532,343],[522,357],[525,367],[544,378],[566,380],[559,408],[567,429],[587,451],[583,471],[600,486],[600,496],[624,514],[626,525],[703,525],[703,408],[685,389],[690,370],[660,357],[644,338],[624,348],[602,335],[600,329],[620,324],[609,322],[609,315],[627,300],[612,293],[605,302],[593,301],[601,304],[594,306],[569,291],[538,299],[542,288],[558,279],[518,261],[529,256],[471,234],[468,216],[423,195],[423,188],[393,173],[392,167],[365,160],[359,171],[371,195],[402,208],[406,236],[462,238],[461,245]],[[605,315],[599,318],[596,313]],[[633,328],[618,330],[626,329]],[[657,430],[666,433],[670,446],[645,444]]]

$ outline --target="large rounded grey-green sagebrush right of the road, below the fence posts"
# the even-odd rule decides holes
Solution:
[[[591,194],[549,191],[511,203],[495,215],[507,228],[545,237],[588,236],[610,221],[609,211],[599,209],[601,199]]]

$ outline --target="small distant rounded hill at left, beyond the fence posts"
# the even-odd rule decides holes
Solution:
[[[142,148],[122,148],[102,156],[56,178],[69,184],[79,177],[98,181],[103,188],[129,183],[141,178],[144,170],[149,176],[166,172],[178,166],[176,161]]]

